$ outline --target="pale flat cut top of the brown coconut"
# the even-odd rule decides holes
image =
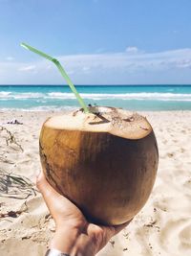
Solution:
[[[90,113],[79,109],[53,116],[44,126],[54,129],[109,132],[127,139],[140,139],[152,131],[147,119],[136,112],[109,106],[91,106],[89,109]]]

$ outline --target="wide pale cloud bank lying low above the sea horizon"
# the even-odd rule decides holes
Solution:
[[[191,83],[189,48],[145,53],[131,47],[129,51],[120,53],[56,58],[74,83]],[[41,58],[28,63],[0,62],[0,71],[1,84],[65,82],[53,63]]]

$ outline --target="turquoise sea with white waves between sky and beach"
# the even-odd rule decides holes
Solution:
[[[76,85],[86,104],[131,110],[191,110],[191,85]],[[0,109],[78,107],[68,85],[0,85]]]

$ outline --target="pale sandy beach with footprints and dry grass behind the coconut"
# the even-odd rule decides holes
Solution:
[[[0,255],[44,256],[54,224],[35,188],[38,136],[55,112],[0,112]],[[159,145],[144,208],[98,256],[191,255],[191,111],[142,112]],[[12,119],[22,125],[7,124]]]

